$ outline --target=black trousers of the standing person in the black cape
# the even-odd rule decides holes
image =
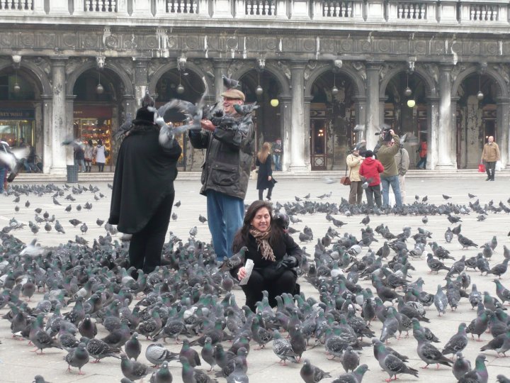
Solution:
[[[174,204],[172,193],[166,196],[154,211],[145,228],[132,235],[130,243],[130,264],[142,269],[145,274],[153,272],[161,265],[161,255],[166,230],[168,230],[171,207]]]

